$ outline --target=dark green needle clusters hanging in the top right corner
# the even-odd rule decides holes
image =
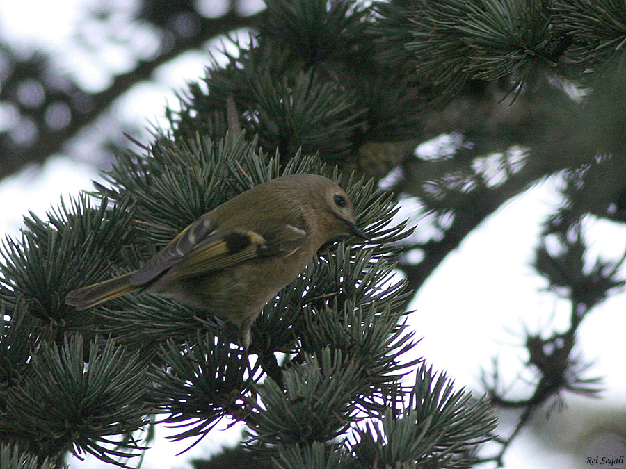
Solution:
[[[449,98],[469,79],[505,79],[509,92],[520,92],[545,74],[595,81],[623,61],[626,7],[618,0],[417,0],[374,8],[378,37],[396,44],[385,60],[417,69]]]

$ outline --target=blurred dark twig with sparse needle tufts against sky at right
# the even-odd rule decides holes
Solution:
[[[618,176],[620,174],[620,176]],[[584,361],[577,352],[577,331],[592,309],[602,304],[611,293],[622,290],[626,284],[618,271],[626,259],[626,252],[617,261],[598,258],[593,264],[586,256],[586,240],[582,220],[588,213],[613,218],[609,209],[615,204],[620,185],[606,184],[613,178],[623,181],[623,163],[613,158],[603,158],[593,165],[568,174],[568,184],[563,189],[566,203],[545,222],[545,231],[536,248],[534,267],[547,279],[549,290],[568,299],[571,304],[569,325],[564,331],[525,332],[524,347],[528,361],[524,367],[531,371],[528,397],[511,400],[501,384],[497,363],[490,376],[483,372],[483,384],[491,402],[503,409],[521,409],[522,414],[508,438],[500,437],[499,452],[483,461],[502,459],[511,441],[520,433],[542,406],[549,404],[561,408],[566,392],[595,397],[602,387],[598,377],[586,377],[593,363]],[[597,183],[602,180],[606,190]],[[596,190],[597,189],[597,190]],[[591,197],[584,194],[591,192]],[[547,248],[551,238],[552,249]],[[556,238],[556,239],[555,239]],[[554,249],[554,241],[559,243]]]

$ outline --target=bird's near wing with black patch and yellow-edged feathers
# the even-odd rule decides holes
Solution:
[[[188,236],[184,235],[184,238],[186,237]],[[249,229],[234,229],[227,233],[214,231],[200,242],[196,242],[186,254],[176,258],[168,255],[166,258],[168,266],[161,269],[150,280],[165,270],[168,270],[168,278],[174,280],[227,268],[253,258],[289,256],[305,242],[306,238],[307,231],[305,229],[291,224],[284,224],[264,231],[264,233],[257,233],[257,231]],[[182,244],[182,240],[178,242]],[[163,255],[166,254],[166,251],[182,252],[182,249],[175,249],[174,243],[177,244],[178,242],[176,239],[172,240],[163,251]],[[188,247],[188,244],[183,244],[183,246]],[[161,254],[158,257],[161,257]],[[138,270],[137,273],[141,272],[147,265]],[[161,263],[160,265],[166,264]]]

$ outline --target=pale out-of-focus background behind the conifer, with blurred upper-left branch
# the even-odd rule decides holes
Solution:
[[[219,63],[231,47],[226,34],[245,44],[264,9],[261,0],[1,0],[1,232],[19,236],[22,215],[42,217],[62,195],[90,190],[92,180],[104,183],[99,171],[110,167],[115,152],[134,145],[126,135],[150,142],[151,129],[168,125],[166,106],[175,111],[179,93],[204,76],[209,51]],[[412,157],[438,158],[458,146],[458,138],[443,133],[415,142]],[[513,172],[514,160],[508,156]],[[499,156],[481,164],[494,181],[506,179]],[[408,179],[406,167],[386,173],[383,188]],[[563,204],[566,176],[556,172],[533,181],[487,213],[426,275],[412,300],[409,323],[423,337],[415,354],[445,370],[456,386],[485,392],[481,370],[490,375],[497,356],[498,379],[515,383],[513,396],[524,396],[533,380],[519,376],[530,360],[527,339],[568,328],[570,301],[533,268],[543,223]],[[416,236],[436,239],[445,231],[446,221],[429,218],[416,199],[399,197],[399,204],[398,216],[417,224]],[[589,265],[617,261],[626,252],[624,224],[589,216],[584,237]],[[416,256],[413,263],[423,255],[407,254]],[[626,270],[616,265],[615,276],[623,279]],[[543,406],[506,452],[504,467],[574,469],[586,467],[587,457],[626,456],[624,302],[618,285],[577,331],[585,363],[593,361],[585,376],[602,377],[599,398],[565,392],[559,402]],[[501,431],[508,434],[520,411],[500,415]],[[188,468],[191,459],[208,458],[241,436],[239,426],[221,430],[176,456],[186,443],[166,441],[168,429],[157,427],[157,443],[142,467]],[[88,458],[70,466],[104,463]]]

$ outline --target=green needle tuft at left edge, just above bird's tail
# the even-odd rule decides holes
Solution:
[[[91,208],[85,196],[48,213],[47,222],[26,217],[29,228],[20,240],[6,238],[0,277],[0,299],[13,309],[23,297],[31,314],[63,327],[84,313],[65,306],[64,297],[76,287],[102,280],[102,266],[111,266],[129,242],[129,213],[107,210],[108,202]]]

